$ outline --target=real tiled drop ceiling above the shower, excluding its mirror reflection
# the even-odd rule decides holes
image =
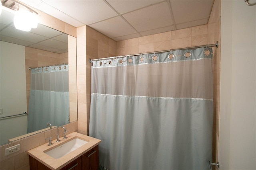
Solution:
[[[20,0],[120,41],[208,23],[214,0]]]

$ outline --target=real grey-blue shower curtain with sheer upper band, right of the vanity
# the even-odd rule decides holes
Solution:
[[[101,169],[206,170],[212,122],[211,48],[92,61]]]

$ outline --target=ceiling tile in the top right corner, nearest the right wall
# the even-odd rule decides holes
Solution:
[[[176,24],[209,18],[214,0],[170,0]]]

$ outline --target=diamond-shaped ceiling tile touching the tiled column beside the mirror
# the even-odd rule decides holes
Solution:
[[[94,23],[89,26],[110,38],[136,33],[136,31],[120,16]]]

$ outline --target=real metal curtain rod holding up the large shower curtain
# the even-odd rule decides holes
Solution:
[[[104,60],[104,59],[117,59],[117,58],[121,58],[121,57],[123,58],[123,57],[127,57],[127,56],[135,56],[135,55],[164,53],[164,52],[175,51],[175,50],[197,49],[197,48],[201,48],[201,47],[217,47],[218,48],[218,46],[219,46],[219,43],[218,43],[218,41],[216,41],[215,44],[209,44],[209,45],[199,45],[199,46],[179,48],[179,49],[170,49],[170,50],[164,50],[164,51],[154,51],[154,52],[150,52],[150,53],[140,53],[140,54],[122,55],[122,56],[116,56],[116,57],[106,57],[106,58],[102,58],[102,59],[89,59],[89,62],[92,63],[92,61],[99,61],[99,60]]]

